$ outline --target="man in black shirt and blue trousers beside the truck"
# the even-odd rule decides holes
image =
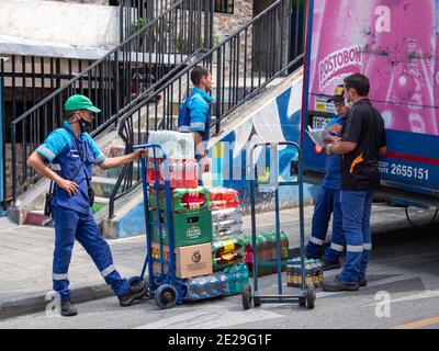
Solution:
[[[346,235],[346,262],[329,292],[358,291],[365,286],[365,270],[372,250],[370,215],[373,193],[380,188],[380,156],[386,152],[384,120],[368,99],[368,77],[354,73],[344,79],[345,95],[352,107],[346,116],[341,139],[327,145],[327,155],[342,155],[340,203]]]

